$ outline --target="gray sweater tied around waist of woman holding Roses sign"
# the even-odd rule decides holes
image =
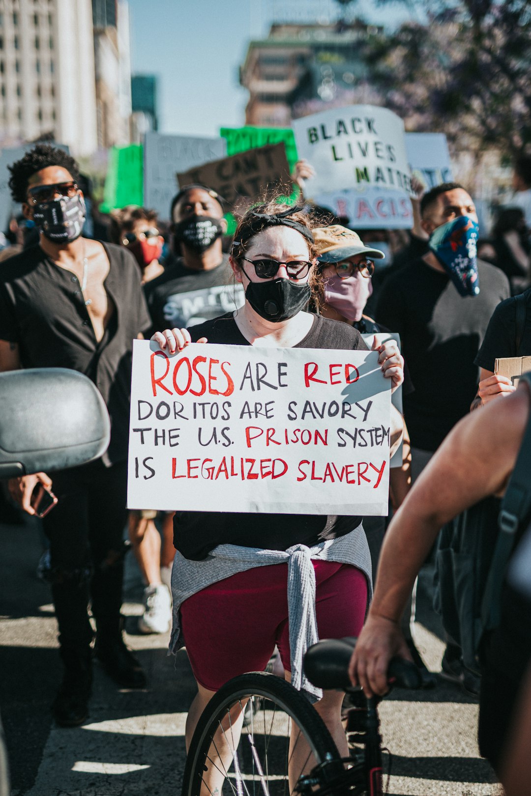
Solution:
[[[296,689],[315,702],[322,697],[303,673],[303,656],[312,644],[318,642],[315,618],[315,573],[311,560],[336,561],[351,564],[365,574],[372,597],[371,558],[369,545],[360,524],[350,533],[313,547],[294,544],[287,550],[262,550],[240,547],[236,544],[219,544],[205,560],[194,561],[176,552],[171,576],[174,598],[174,621],[170,638],[170,652],[176,653],[185,646],[180,624],[179,609],[186,599],[197,591],[220,580],[255,567],[287,563],[287,610],[290,631],[291,682]]]

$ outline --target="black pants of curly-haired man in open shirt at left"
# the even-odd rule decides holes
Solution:
[[[105,467],[99,459],[52,478],[58,503],[43,523],[61,654],[68,662],[72,654],[88,654],[89,599],[98,630],[119,633],[127,462]]]

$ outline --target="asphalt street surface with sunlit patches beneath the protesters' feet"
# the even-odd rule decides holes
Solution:
[[[142,583],[127,564],[127,643],[148,675],[144,691],[117,690],[95,665],[94,696],[83,727],[53,725],[49,704],[61,680],[49,587],[35,574],[41,540],[33,522],[0,525],[0,710],[12,796],[174,796],[185,759],[185,716],[194,694],[182,650],[166,654],[167,636],[135,633]],[[419,599],[423,602],[422,596]],[[428,610],[417,644],[433,671],[443,644]],[[389,794],[501,794],[475,740],[477,704],[441,681],[425,692],[396,691],[380,708],[392,752]]]

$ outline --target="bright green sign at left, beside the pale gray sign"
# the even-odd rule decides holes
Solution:
[[[113,146],[109,152],[102,213],[143,203],[143,147]]]

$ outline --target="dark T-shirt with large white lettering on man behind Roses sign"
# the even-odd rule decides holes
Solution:
[[[210,271],[193,271],[182,257],[167,261],[164,273],[144,286],[152,332],[195,326],[242,306],[244,289],[231,276],[228,255]]]

